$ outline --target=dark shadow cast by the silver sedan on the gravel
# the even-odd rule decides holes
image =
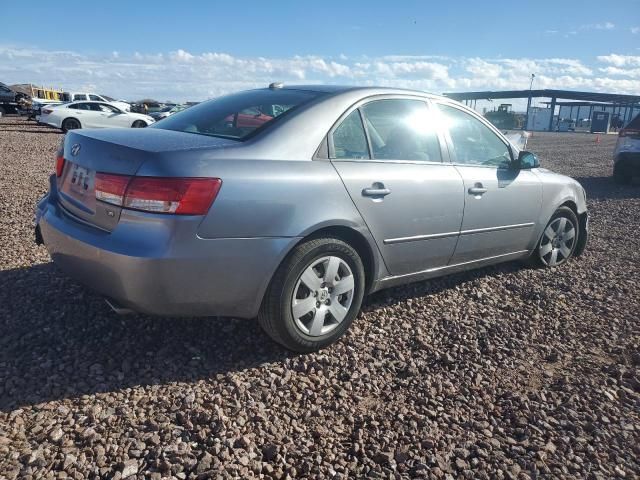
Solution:
[[[363,311],[521,268],[510,262],[383,290]],[[134,386],[223,380],[296,355],[252,320],[119,316],[53,263],[0,271],[0,333],[4,412]]]

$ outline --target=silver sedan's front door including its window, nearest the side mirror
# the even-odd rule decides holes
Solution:
[[[464,218],[452,264],[530,249],[542,183],[513,167],[508,142],[479,116],[441,102],[452,162],[464,182]]]

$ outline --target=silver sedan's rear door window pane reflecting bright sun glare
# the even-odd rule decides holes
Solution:
[[[362,112],[374,159],[442,161],[436,125],[425,102],[376,100]]]

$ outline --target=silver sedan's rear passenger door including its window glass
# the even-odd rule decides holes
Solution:
[[[422,98],[365,100],[329,134],[329,157],[392,275],[446,266],[463,214],[462,179]]]

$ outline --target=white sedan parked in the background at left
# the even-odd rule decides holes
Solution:
[[[124,112],[106,102],[48,105],[42,109],[38,121],[64,132],[76,128],[142,128],[155,122],[149,115]]]

